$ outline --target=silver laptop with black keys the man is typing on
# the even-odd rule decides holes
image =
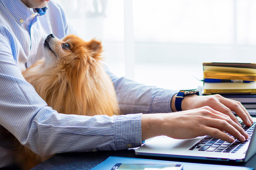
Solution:
[[[243,129],[249,135],[249,138],[244,142],[235,140],[233,143],[228,143],[212,136],[197,137],[194,139],[172,139],[167,136],[158,136],[147,141],[143,146],[135,150],[135,154],[247,162],[256,153],[256,134],[253,134],[256,126],[256,118],[253,118],[254,123],[251,127],[245,126],[240,118],[238,120],[240,120]]]

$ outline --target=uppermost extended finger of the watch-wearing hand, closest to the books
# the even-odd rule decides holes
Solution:
[[[223,103],[226,107],[228,107],[231,111],[236,112],[236,114],[243,120],[246,126],[251,126],[252,122],[249,120],[249,115],[241,108],[241,106],[224,97],[220,98],[220,102]]]

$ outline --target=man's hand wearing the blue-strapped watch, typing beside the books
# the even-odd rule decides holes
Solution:
[[[174,95],[171,101],[172,111],[176,111],[175,96],[176,95]],[[181,102],[181,109],[183,111],[196,109],[203,106],[209,106],[216,111],[228,115],[239,126],[241,125],[236,116],[234,116],[234,114],[232,113],[232,111],[234,111],[243,120],[246,126],[251,126],[253,123],[250,114],[240,102],[227,99],[218,94],[206,96],[187,95]]]

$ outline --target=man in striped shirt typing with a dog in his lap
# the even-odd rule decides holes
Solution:
[[[48,107],[21,71],[44,57],[47,35],[61,39],[75,34],[63,10],[49,1],[0,0],[0,125],[22,145],[49,156],[138,147],[143,140],[159,135],[177,139],[212,135],[234,141],[224,130],[240,141],[248,138],[231,111],[247,126],[253,121],[237,101],[220,95],[189,95],[181,102],[183,111],[171,113],[176,111],[177,92],[117,78],[108,69],[124,115],[65,115]],[[13,164],[11,144],[0,136],[0,167]]]

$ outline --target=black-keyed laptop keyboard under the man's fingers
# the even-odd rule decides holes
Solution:
[[[226,152],[226,153],[236,153],[240,148],[242,148],[247,142],[250,142],[251,136],[253,134],[255,123],[252,126],[245,126],[243,122],[240,122],[243,129],[248,133],[249,138],[245,141],[240,142],[235,140],[233,143],[222,141],[212,136],[206,136],[204,139],[199,141],[197,144],[192,146],[189,150],[199,150],[208,152]],[[227,133],[227,132],[224,132]],[[228,134],[228,133],[227,133]],[[230,135],[230,134],[228,134]],[[230,135],[232,137],[232,135]],[[199,149],[198,149],[199,148]]]

